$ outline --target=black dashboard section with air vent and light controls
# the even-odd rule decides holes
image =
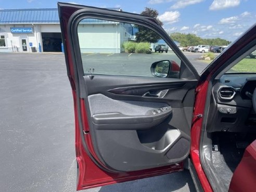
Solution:
[[[254,116],[251,99],[255,88],[256,74],[227,73],[215,80],[207,131],[247,132],[254,126],[249,117]]]

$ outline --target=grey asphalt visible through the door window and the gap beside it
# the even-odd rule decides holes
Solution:
[[[199,73],[207,66],[207,63],[197,60],[203,54],[189,52],[185,54],[191,58],[190,61],[193,62],[194,67]],[[88,72],[89,68],[93,68],[96,74],[152,76],[150,72],[151,64],[161,60],[173,60],[178,64],[181,63],[181,60],[173,52],[152,54],[82,54],[85,72]]]

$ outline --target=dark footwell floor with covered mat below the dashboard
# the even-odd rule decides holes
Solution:
[[[216,132],[212,137],[212,162],[217,175],[229,187],[233,173],[255,134]]]

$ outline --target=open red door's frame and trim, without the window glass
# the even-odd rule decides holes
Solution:
[[[78,189],[180,171],[190,149],[194,67],[152,18],[58,6],[74,98]],[[76,27],[84,18],[133,21],[157,32],[181,59],[180,79],[84,74]]]

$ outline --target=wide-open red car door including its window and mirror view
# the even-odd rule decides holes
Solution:
[[[195,68],[156,19],[66,3],[58,9],[74,99],[77,189],[183,170]],[[135,31],[145,30],[172,52],[140,48]]]

